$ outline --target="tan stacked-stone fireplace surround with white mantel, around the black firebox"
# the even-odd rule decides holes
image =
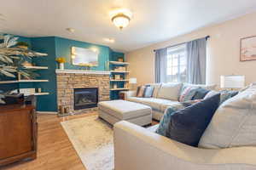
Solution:
[[[56,71],[58,105],[68,106],[74,114],[91,109],[74,111],[74,88],[98,88],[98,101],[109,100],[109,74],[96,71]],[[94,108],[95,110],[96,108]]]

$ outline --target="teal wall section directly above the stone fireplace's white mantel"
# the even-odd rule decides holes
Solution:
[[[107,46],[96,45],[88,42],[79,42],[75,40],[70,40],[62,37],[55,37],[55,47],[56,47],[56,57],[65,57],[67,63],[65,63],[65,69],[71,70],[81,70],[84,69],[82,66],[73,65],[71,59],[71,48],[96,48],[99,51],[98,56],[98,66],[91,67],[90,70],[93,71],[106,71],[107,61],[110,58],[110,48]]]

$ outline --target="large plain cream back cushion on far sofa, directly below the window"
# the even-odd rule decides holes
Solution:
[[[178,82],[163,83],[159,90],[157,98],[177,101],[182,85],[183,83]]]

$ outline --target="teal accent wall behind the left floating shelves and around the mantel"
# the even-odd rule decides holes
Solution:
[[[72,65],[71,48],[96,48],[99,51],[98,66],[91,67],[93,71],[108,71],[107,62],[109,60],[117,60],[124,54],[114,52],[111,48],[103,45],[97,45],[89,42],[80,42],[62,37],[19,37],[19,42],[28,42],[32,50],[40,53],[46,53],[48,56],[34,58],[36,65],[48,66],[48,70],[38,70],[40,79],[47,79],[49,82],[30,82],[18,84],[0,85],[0,90],[7,91],[16,88],[42,88],[42,92],[49,92],[49,95],[38,96],[37,111],[57,111],[57,94],[56,94],[56,74],[55,69],[58,68],[55,59],[57,57],[65,57],[65,69],[81,70],[84,67]],[[1,78],[1,77],[0,77]],[[6,80],[6,77],[5,77]],[[110,93],[111,99],[116,99],[116,92]]]

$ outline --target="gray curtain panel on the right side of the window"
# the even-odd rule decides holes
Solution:
[[[207,39],[201,38],[187,42],[188,82],[192,84],[206,83]]]

